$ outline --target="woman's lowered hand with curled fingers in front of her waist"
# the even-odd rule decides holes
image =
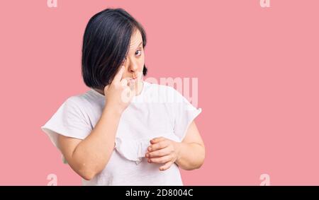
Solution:
[[[179,158],[179,142],[159,137],[152,139],[150,143],[145,158],[148,163],[164,163],[159,170],[167,170]]]

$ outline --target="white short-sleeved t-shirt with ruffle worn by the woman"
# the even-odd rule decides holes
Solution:
[[[55,146],[57,134],[85,139],[99,121],[106,100],[93,89],[74,95],[41,129]],[[82,179],[82,184],[183,185],[177,164],[159,171],[164,164],[147,163],[145,153],[155,137],[181,142],[199,113],[201,109],[196,109],[174,88],[143,81],[140,95],[133,97],[121,115],[115,148],[106,167],[93,179]]]

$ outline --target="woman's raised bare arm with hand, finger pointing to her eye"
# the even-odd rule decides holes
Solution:
[[[74,139],[59,135],[58,147],[65,156],[67,163],[74,172],[85,180],[91,180],[101,172],[113,153],[116,131],[121,114],[130,104],[130,100],[123,100],[123,93],[128,93],[130,87],[122,79],[124,68],[121,68],[112,83],[104,88],[108,96],[103,112],[96,126],[85,139]]]

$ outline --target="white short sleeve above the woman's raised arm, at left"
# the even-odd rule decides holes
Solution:
[[[69,136],[75,139],[85,139],[91,133],[91,125],[85,118],[85,113],[81,109],[79,102],[68,98],[59,107],[57,112],[41,127],[49,136],[54,146],[57,146],[57,136]],[[65,162],[65,158],[63,158]],[[66,163],[66,162],[65,162]]]

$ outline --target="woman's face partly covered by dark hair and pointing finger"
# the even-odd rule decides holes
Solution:
[[[130,39],[128,55],[123,62],[125,71],[123,77],[129,81],[134,81],[137,86],[142,81],[142,71],[144,67],[143,40],[140,31],[137,30]]]

